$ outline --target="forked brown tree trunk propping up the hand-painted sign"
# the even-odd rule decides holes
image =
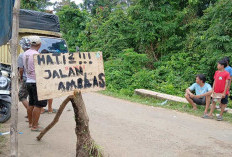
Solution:
[[[37,136],[37,140],[41,140],[47,131],[58,122],[62,111],[69,101],[72,102],[76,121],[76,157],[103,157],[101,150],[99,150],[90,136],[89,117],[80,91],[74,91],[74,95],[67,97],[63,101],[53,121],[39,134],[39,136]]]

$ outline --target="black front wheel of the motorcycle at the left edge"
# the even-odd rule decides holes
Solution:
[[[11,117],[11,104],[5,101],[0,103],[0,123],[4,123]]]

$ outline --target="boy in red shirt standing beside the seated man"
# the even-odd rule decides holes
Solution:
[[[225,60],[218,62],[217,69],[218,71],[214,74],[214,83],[213,83],[213,103],[209,115],[205,115],[203,118],[213,119],[213,111],[215,110],[217,100],[221,100],[221,112],[217,117],[218,121],[222,121],[222,115],[228,104],[228,85],[230,81],[230,74],[225,70],[227,63]],[[217,97],[215,97],[217,95]]]

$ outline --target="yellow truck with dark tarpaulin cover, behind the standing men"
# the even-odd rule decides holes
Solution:
[[[50,53],[66,53],[68,48],[60,33],[59,19],[56,15],[38,12],[32,10],[20,10],[19,14],[19,40],[22,37],[38,35],[41,38],[42,50]],[[9,43],[0,47],[0,65],[1,67],[9,67],[11,65]],[[17,54],[23,50],[18,47]]]

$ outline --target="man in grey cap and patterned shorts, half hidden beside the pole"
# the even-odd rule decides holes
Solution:
[[[30,41],[27,38],[22,38],[19,41],[19,44],[22,47],[24,52],[29,50],[31,47]],[[24,107],[27,109],[27,107],[28,107],[28,101],[27,101],[28,91],[27,91],[27,87],[26,87],[27,77],[26,77],[25,70],[23,68],[24,52],[20,53],[18,56],[19,81],[21,84],[20,88],[19,88],[18,96],[19,96],[19,101],[21,101],[22,104],[24,105]]]

